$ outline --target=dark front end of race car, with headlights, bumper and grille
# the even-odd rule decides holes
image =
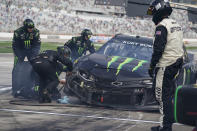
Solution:
[[[77,71],[68,78],[67,88],[82,102],[105,107],[157,110],[151,79],[109,81]]]

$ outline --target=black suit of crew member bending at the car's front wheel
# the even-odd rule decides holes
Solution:
[[[50,102],[50,95],[58,93],[56,88],[59,84],[58,74],[62,71],[72,71],[73,65],[71,60],[60,56],[57,51],[46,50],[31,59],[30,63],[40,77],[39,101]]]

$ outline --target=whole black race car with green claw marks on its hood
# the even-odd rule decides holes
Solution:
[[[152,78],[148,75],[152,48],[151,38],[115,35],[94,54],[74,62],[73,74],[67,78],[65,88],[88,104],[134,110],[158,109]],[[193,77],[188,63],[187,58],[185,70],[179,76],[181,84],[191,83],[183,78]]]

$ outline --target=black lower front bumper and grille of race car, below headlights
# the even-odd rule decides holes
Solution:
[[[146,102],[149,96],[147,88],[109,88],[103,89],[95,86],[94,83],[85,81],[70,81],[67,88],[71,90],[81,101],[99,106],[122,108],[129,110],[158,110],[156,104],[148,105]],[[149,100],[154,103],[154,100]]]

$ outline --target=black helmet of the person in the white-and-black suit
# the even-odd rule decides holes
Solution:
[[[170,16],[172,7],[168,0],[153,0],[147,10],[148,15],[153,15],[153,22],[157,25],[164,17]]]

